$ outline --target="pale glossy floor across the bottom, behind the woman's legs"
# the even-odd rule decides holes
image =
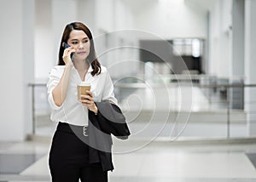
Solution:
[[[49,144],[0,143],[0,181],[50,181]],[[113,163],[110,182],[256,182],[256,143],[114,139]]]

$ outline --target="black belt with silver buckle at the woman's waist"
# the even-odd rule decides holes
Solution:
[[[88,136],[88,126],[77,126],[73,124],[68,124],[67,122],[59,122],[57,126],[57,131],[62,131],[70,134],[77,134]]]

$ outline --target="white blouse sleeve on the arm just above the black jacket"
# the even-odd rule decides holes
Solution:
[[[113,104],[118,105],[118,101],[113,94],[113,82],[108,71],[106,73],[106,82],[105,82],[105,88],[102,94],[102,100],[108,100],[110,102],[113,102]]]

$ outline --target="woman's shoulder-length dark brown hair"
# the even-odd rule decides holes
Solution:
[[[95,51],[94,42],[93,42],[91,32],[90,32],[89,28],[81,22],[72,22],[70,24],[67,24],[67,26],[65,27],[65,29],[63,31],[63,34],[62,34],[62,37],[61,37],[61,45],[60,45],[60,50],[59,50],[59,63],[58,63],[58,65],[65,65],[65,62],[62,59],[62,55],[63,55],[63,52],[64,52],[65,48],[63,47],[62,43],[67,43],[67,40],[70,36],[70,32],[73,31],[73,30],[84,31],[84,33],[90,39],[90,54],[88,55],[86,60],[88,60],[88,62],[90,63],[90,65],[92,67],[93,71],[91,72],[91,75],[95,76],[96,74],[97,75],[100,74],[101,71],[102,71],[101,64],[96,59],[96,51]]]

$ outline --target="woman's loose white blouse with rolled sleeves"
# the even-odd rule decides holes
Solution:
[[[79,72],[74,67],[71,70],[66,100],[64,100],[61,106],[55,105],[52,91],[60,82],[64,69],[65,65],[56,65],[49,72],[47,93],[49,105],[51,108],[50,119],[54,122],[67,122],[73,125],[87,126],[88,108],[79,102],[77,91],[77,85],[82,82],[82,80],[79,76]],[[117,100],[113,94],[113,82],[106,67],[102,66],[101,74],[95,75],[94,77],[90,74],[91,71],[93,70],[90,65],[85,76],[85,82],[90,82],[90,91],[93,94],[94,100],[96,102],[109,100],[114,104],[117,104]]]

